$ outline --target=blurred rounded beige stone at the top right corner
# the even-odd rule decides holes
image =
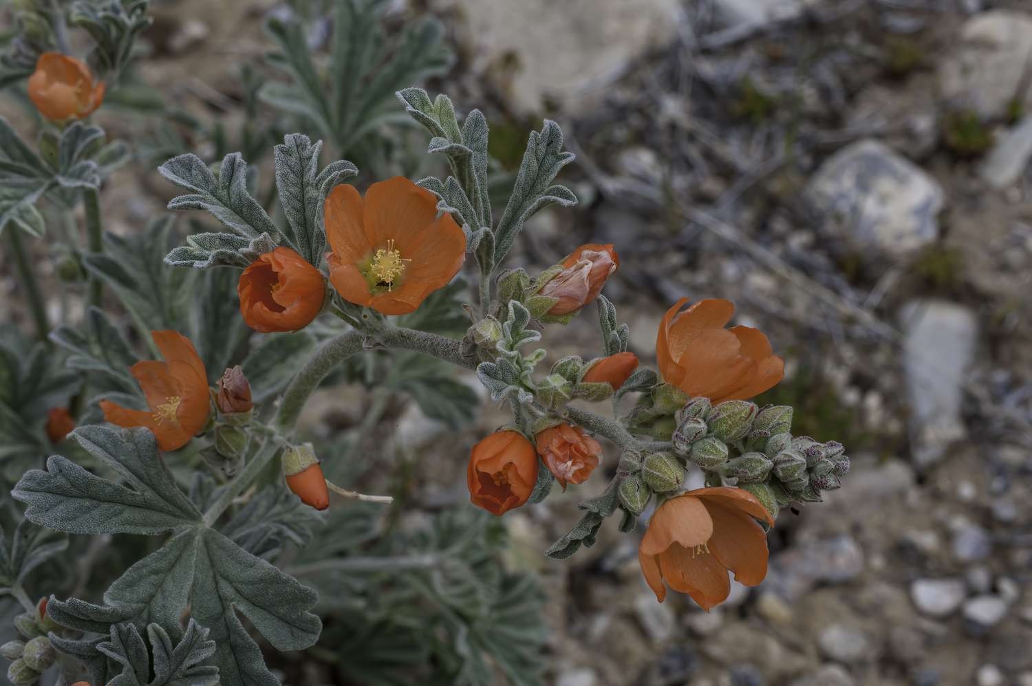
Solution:
[[[972,17],[961,29],[959,44],[946,51],[939,66],[939,90],[955,108],[983,118],[1004,116],[1017,97],[1032,108],[1026,80],[1032,60],[1032,17],[994,10]]]

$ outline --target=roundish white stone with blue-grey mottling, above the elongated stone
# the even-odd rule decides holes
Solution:
[[[939,235],[942,188],[877,140],[860,140],[826,160],[805,196],[826,232],[875,254],[905,255]]]

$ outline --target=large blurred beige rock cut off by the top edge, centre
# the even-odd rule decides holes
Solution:
[[[561,106],[617,77],[639,55],[675,36],[679,0],[437,0],[456,7],[459,39],[474,73],[493,77],[509,105],[541,111]]]

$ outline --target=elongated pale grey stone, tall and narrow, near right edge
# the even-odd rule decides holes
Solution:
[[[913,455],[924,466],[965,434],[963,382],[974,356],[978,324],[970,309],[943,300],[912,300],[903,306],[900,320]]]

